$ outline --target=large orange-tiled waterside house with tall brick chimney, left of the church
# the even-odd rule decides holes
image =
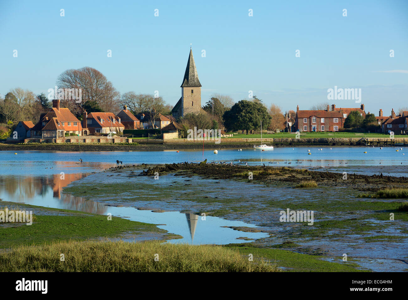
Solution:
[[[60,107],[60,100],[52,100],[52,109],[42,113],[40,121],[31,128],[31,138],[56,139],[65,135],[82,135],[82,125],[67,108]]]

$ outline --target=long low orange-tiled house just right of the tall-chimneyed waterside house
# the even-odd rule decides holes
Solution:
[[[119,133],[123,132],[124,124],[122,124],[120,117],[115,116],[114,113],[89,113],[86,111],[82,113],[82,127],[84,128],[84,135],[90,133]]]

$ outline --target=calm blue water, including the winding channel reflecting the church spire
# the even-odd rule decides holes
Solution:
[[[311,155],[308,155],[310,149]],[[0,151],[0,198],[10,202],[20,202],[44,207],[71,209],[91,213],[108,214],[129,218],[130,220],[160,225],[170,233],[183,236],[183,239],[171,242],[189,242],[194,244],[227,244],[242,242],[238,237],[262,238],[266,233],[245,233],[221,226],[255,227],[240,221],[229,221],[217,217],[206,217],[179,212],[154,213],[137,210],[134,207],[111,207],[101,202],[83,200],[62,193],[67,184],[116,165],[116,160],[124,164],[198,162],[234,162],[236,164],[268,165],[279,162],[285,166],[292,162],[292,167],[330,167],[348,168],[370,172],[373,167],[392,167],[392,175],[407,176],[407,155],[403,150],[384,147],[328,147],[322,148],[276,148],[271,151],[253,149],[218,149],[213,150],[175,150],[168,151],[100,151],[100,152],[60,152],[60,151]],[[363,153],[367,151],[367,153]],[[17,154],[14,154],[17,153]],[[83,162],[80,163],[79,159]],[[271,162],[271,163],[270,163]],[[297,163],[296,163],[297,162]],[[299,162],[302,162],[299,164]],[[347,164],[346,164],[347,162]],[[402,163],[402,164],[401,164]],[[375,168],[374,168],[375,167]],[[337,170],[338,171],[338,170]],[[64,179],[60,177],[64,173]]]

